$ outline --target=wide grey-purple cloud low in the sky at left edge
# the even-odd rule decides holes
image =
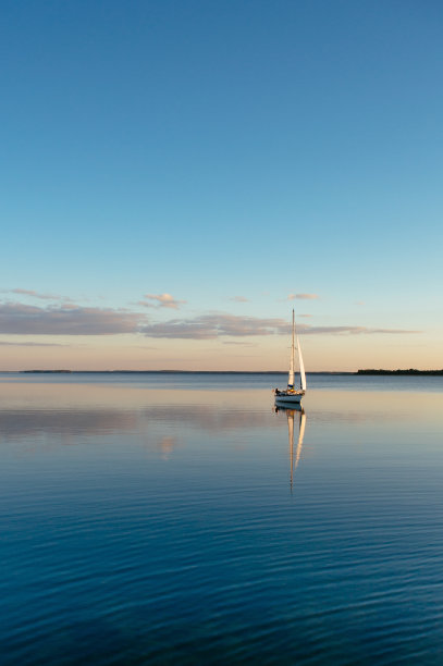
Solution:
[[[116,335],[135,333],[143,318],[109,308],[0,304],[0,333],[13,335]]]

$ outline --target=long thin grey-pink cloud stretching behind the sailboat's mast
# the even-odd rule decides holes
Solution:
[[[409,334],[420,331],[403,329],[370,329],[366,326],[310,326],[299,324],[304,335],[361,335],[373,333]],[[291,324],[283,319],[259,319],[234,314],[204,314],[195,319],[172,319],[140,328],[147,337],[214,340],[217,337],[245,337],[253,335],[288,335]]]

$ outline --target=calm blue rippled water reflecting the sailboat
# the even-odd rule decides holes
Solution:
[[[443,378],[0,375],[2,664],[442,664]]]

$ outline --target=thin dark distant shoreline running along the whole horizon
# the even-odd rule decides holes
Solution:
[[[4,372],[19,372],[21,374],[287,374],[285,370],[5,370]],[[319,371],[307,374],[322,375],[443,375],[443,370],[383,370],[367,369],[349,371]]]

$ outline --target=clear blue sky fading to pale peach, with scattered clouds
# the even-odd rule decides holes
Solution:
[[[441,2],[0,15],[0,370],[443,368]]]

